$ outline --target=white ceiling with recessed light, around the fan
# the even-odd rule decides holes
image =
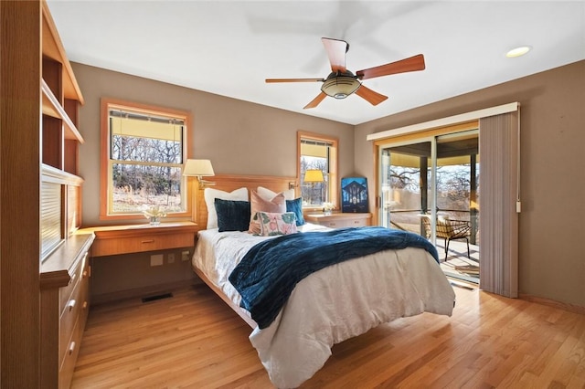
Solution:
[[[71,61],[359,124],[585,59],[585,1],[48,0]],[[363,81],[388,96],[316,97],[321,37],[345,39],[354,73],[416,54],[426,69]],[[520,45],[533,49],[506,58]]]

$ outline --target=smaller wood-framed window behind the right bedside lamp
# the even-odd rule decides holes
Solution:
[[[302,131],[297,138],[303,208],[321,209],[326,202],[338,209],[337,140]]]

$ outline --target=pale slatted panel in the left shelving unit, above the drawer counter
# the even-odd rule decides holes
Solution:
[[[61,185],[43,183],[41,192],[41,258],[45,258],[57,247],[61,233]]]

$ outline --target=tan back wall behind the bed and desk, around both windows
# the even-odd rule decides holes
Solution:
[[[354,127],[351,125],[103,68],[77,63],[72,67],[85,99],[80,109],[80,132],[85,139],[80,146],[80,175],[85,179],[83,226],[102,224],[98,168],[102,97],[191,111],[194,128],[189,134],[189,156],[210,159],[216,173],[295,176],[296,132],[302,130],[337,137],[340,177],[354,174]],[[185,267],[179,264],[151,268],[149,254],[116,258],[94,259],[94,297],[193,277],[190,270],[186,274]]]

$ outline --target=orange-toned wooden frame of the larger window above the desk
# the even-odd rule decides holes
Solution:
[[[185,122],[183,129],[183,142],[182,142],[182,154],[183,161],[182,166],[185,165],[186,160],[189,158],[187,154],[187,145],[190,131],[192,129],[192,118],[191,113],[185,110],[174,110],[165,107],[159,107],[154,105],[141,104],[125,100],[115,99],[101,99],[101,152],[100,152],[100,220],[128,220],[137,221],[144,220],[142,213],[127,213],[127,214],[110,214],[110,200],[112,198],[112,188],[110,183],[112,177],[110,177],[110,110],[132,110],[140,112],[144,115],[153,115],[159,117],[168,117],[169,119],[179,119]],[[183,167],[181,167],[183,169]],[[189,184],[188,177],[182,176],[181,178],[181,192],[185,190],[185,201],[186,205],[183,212],[173,212],[168,214],[165,220],[192,220],[193,219],[193,198],[194,190],[192,185]]]

